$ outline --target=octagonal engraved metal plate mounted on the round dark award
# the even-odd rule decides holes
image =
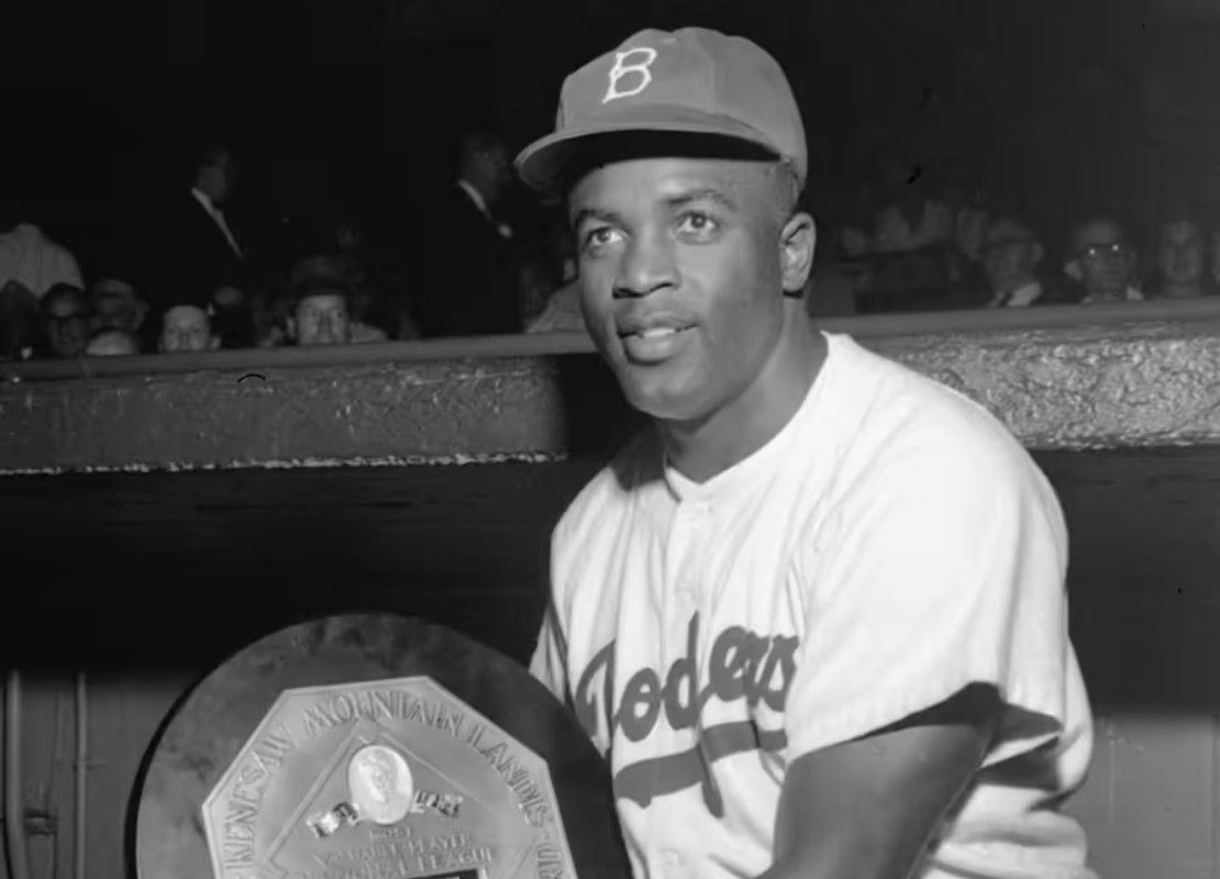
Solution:
[[[284,690],[203,805],[217,879],[575,879],[545,761],[427,677]]]

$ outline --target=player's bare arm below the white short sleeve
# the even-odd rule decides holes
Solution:
[[[788,767],[761,879],[908,879],[974,780],[1003,703],[972,685],[942,705]]]

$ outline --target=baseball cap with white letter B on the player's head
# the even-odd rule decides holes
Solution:
[[[521,179],[561,189],[598,135],[727,138],[786,160],[802,185],[809,158],[800,110],[778,62],[742,37],[706,28],[640,30],[564,80],[555,132],[517,156]]]

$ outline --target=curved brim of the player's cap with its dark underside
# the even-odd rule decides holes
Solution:
[[[584,171],[648,156],[776,160],[780,152],[756,128],[689,107],[644,105],[549,134],[521,151],[517,173],[529,187],[562,191]]]

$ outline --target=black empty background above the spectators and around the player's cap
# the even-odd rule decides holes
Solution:
[[[1220,4],[1204,0],[27,2],[5,12],[0,196],[98,267],[117,219],[183,185],[182,149],[220,132],[248,207],[393,219],[451,179],[462,132],[520,146],[566,72],[683,24],[780,59],[824,219],[895,151],[1030,202],[1052,235],[1099,207],[1216,219]]]

